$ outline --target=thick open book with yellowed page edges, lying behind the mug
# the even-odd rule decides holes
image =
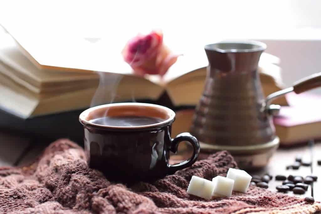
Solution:
[[[204,89],[208,62],[202,47],[179,57],[164,78],[143,78],[132,74],[120,51],[115,52],[114,57],[109,56],[110,60],[106,63],[104,56],[108,54],[104,55],[101,50],[94,52],[94,49],[88,48],[89,43],[82,45],[79,42],[77,49],[72,51],[77,41],[74,40],[73,45],[65,47],[66,51],[60,50],[66,56],[66,53],[83,52],[79,47],[84,47],[84,50],[87,47],[91,51],[86,53],[87,61],[84,63],[83,55],[72,57],[73,60],[55,57],[57,52],[50,53],[52,44],[47,49],[37,49],[39,44],[32,45],[36,41],[23,39],[20,34],[16,35],[16,39],[6,32],[0,34],[0,108],[22,118],[111,102],[157,101],[164,94],[170,98],[171,104],[159,104],[195,106]],[[277,62],[276,57],[265,53],[260,59],[260,77],[265,95],[282,88],[280,68],[273,64]],[[104,73],[100,73],[100,78],[93,70]],[[284,98],[276,103],[287,104]]]

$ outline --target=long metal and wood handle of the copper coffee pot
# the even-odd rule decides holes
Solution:
[[[275,98],[283,96],[290,92],[295,92],[296,94],[300,94],[302,92],[305,92],[320,86],[321,86],[321,72],[304,77],[299,81],[295,82],[292,87],[269,94],[266,97],[266,100],[263,106],[263,111],[269,115],[277,115],[280,111],[280,105],[271,105],[271,102]]]

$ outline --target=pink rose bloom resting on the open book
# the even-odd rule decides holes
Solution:
[[[164,76],[179,56],[172,54],[163,44],[163,34],[160,31],[135,36],[127,42],[122,54],[134,73],[140,76],[145,74]]]

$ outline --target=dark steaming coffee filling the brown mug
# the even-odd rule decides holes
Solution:
[[[109,126],[145,126],[159,123],[163,120],[154,117],[144,116],[122,116],[122,117],[100,117],[90,120],[90,122],[99,125]]]

